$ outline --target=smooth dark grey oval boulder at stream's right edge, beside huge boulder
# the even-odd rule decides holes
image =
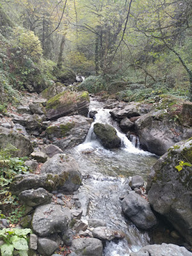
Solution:
[[[122,200],[122,211],[138,228],[148,230],[157,225],[156,216],[150,209],[147,200],[134,191],[131,191]]]

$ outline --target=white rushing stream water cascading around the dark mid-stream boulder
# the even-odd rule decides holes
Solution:
[[[141,232],[122,215],[120,196],[129,190],[129,180],[133,175],[142,175],[147,179],[150,167],[156,162],[156,157],[148,152],[134,147],[118,129],[112,120],[109,109],[103,109],[102,103],[92,100],[91,110],[97,110],[95,122],[110,124],[115,127],[122,140],[122,147],[106,150],[93,133],[93,124],[86,140],[81,145],[70,150],[70,154],[77,160],[81,173],[84,175],[84,191],[90,196],[91,204],[87,218],[105,220],[108,227],[121,230],[125,239],[106,244],[103,256],[129,256],[130,252],[137,252],[141,247],[150,243],[147,232]]]

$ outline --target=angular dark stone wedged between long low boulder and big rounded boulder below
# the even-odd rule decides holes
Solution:
[[[24,190],[19,194],[19,200],[24,204],[35,207],[40,204],[49,204],[52,200],[52,194],[44,188]]]

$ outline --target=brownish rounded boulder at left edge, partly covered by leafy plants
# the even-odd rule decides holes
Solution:
[[[10,131],[9,129],[6,129],[6,131],[1,131],[0,149],[4,149],[6,147],[10,148],[10,145],[12,145],[13,148],[17,148],[17,150],[12,150],[13,157],[29,156],[31,152],[33,152],[31,142],[22,134],[12,133],[12,131]]]

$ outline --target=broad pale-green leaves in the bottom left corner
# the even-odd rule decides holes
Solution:
[[[20,256],[28,256],[28,234],[30,228],[3,228],[0,230],[0,238],[4,244],[0,246],[1,256],[12,256],[18,253]]]

